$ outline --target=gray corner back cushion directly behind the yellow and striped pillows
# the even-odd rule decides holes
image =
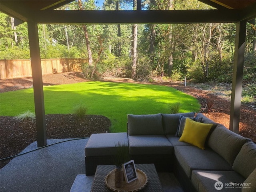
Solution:
[[[181,115],[184,117],[194,117],[195,113],[162,114],[164,134],[176,134]]]

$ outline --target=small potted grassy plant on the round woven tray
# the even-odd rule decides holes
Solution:
[[[115,163],[115,185],[117,188],[121,188],[124,184],[124,172],[122,164],[129,161],[129,147],[126,144],[118,142],[115,144],[116,154],[114,156]]]

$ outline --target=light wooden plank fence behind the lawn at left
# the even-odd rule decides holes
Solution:
[[[81,64],[87,62],[86,59],[42,59],[42,74],[54,74],[64,72],[82,72]],[[13,79],[31,77],[30,60],[0,60],[0,79]]]

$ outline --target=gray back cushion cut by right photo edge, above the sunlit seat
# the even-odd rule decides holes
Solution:
[[[256,168],[256,144],[254,142],[246,142],[242,146],[232,168],[244,178],[247,178],[252,173]]]

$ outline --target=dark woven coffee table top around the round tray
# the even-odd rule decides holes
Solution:
[[[140,192],[163,192],[154,164],[136,164],[135,166],[148,176],[148,183]],[[91,192],[111,192],[105,184],[105,178],[114,168],[114,165],[97,166]]]

